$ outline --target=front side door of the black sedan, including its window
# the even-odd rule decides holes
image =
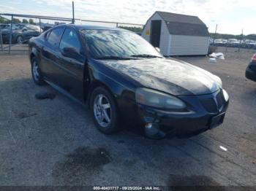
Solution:
[[[66,28],[64,30],[59,49],[61,50],[61,57],[59,58],[61,87],[82,101],[83,71],[86,57],[82,52],[82,46],[75,29]]]

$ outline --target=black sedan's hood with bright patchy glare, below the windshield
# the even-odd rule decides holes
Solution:
[[[150,58],[101,63],[132,78],[141,87],[161,90],[172,95],[214,93],[222,84],[221,79],[214,74],[173,59]]]

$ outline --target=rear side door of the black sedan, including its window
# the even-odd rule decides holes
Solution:
[[[60,85],[61,69],[59,67],[59,42],[64,32],[64,27],[53,28],[45,35],[45,44],[41,50],[40,69],[48,81]]]

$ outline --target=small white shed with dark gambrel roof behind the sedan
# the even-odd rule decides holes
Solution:
[[[199,17],[155,12],[141,34],[162,55],[207,55],[209,32]]]

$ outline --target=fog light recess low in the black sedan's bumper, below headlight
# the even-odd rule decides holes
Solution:
[[[165,137],[165,133],[159,130],[159,125],[153,122],[148,122],[145,125],[145,135],[151,139],[163,139]]]

